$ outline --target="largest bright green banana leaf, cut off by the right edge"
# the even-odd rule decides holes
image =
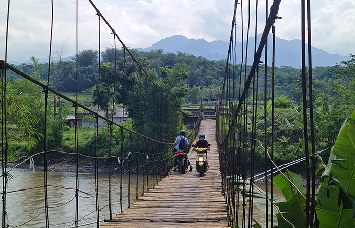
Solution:
[[[344,123],[328,165],[322,167],[316,207],[319,228],[355,227],[355,111]]]

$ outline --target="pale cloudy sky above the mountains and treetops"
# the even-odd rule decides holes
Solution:
[[[127,47],[146,48],[165,37],[184,35],[207,41],[228,41],[234,0],[92,0]],[[99,48],[99,20],[88,0],[79,0],[78,49]],[[255,1],[251,0],[250,36],[255,30]],[[270,9],[272,0],[269,0]],[[0,59],[5,58],[8,0],[0,0]],[[65,56],[76,52],[76,1],[53,0],[53,53],[63,46]],[[237,37],[247,37],[248,1],[239,0]],[[258,1],[258,34],[265,26],[265,0]],[[331,54],[355,54],[355,0],[311,1],[312,46]],[[241,7],[242,5],[242,7]],[[243,13],[241,13],[243,9]],[[301,0],[282,0],[276,36],[301,38]],[[243,17],[243,23],[241,22]],[[50,0],[11,0],[8,33],[9,62],[48,61],[51,28]],[[101,50],[112,47],[111,30],[101,20]],[[277,45],[277,44],[276,44]],[[117,44],[117,47],[120,47]],[[227,50],[226,50],[227,52]]]

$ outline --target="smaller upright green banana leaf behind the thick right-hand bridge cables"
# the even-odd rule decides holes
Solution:
[[[285,174],[300,191],[303,191],[301,175],[290,172],[289,170],[286,170],[283,174]],[[283,217],[291,222],[295,228],[305,228],[306,214],[304,210],[306,208],[306,200],[283,175],[279,174],[275,176],[274,184],[281,190],[286,200],[286,202],[276,203]],[[292,227],[280,214],[276,214],[276,217],[279,227]]]

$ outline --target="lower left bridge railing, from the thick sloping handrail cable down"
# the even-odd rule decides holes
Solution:
[[[40,151],[39,153],[36,153],[32,156],[29,156],[26,158],[24,161],[20,162],[19,164],[15,165],[11,169],[7,169],[7,150],[3,151],[3,173],[2,173],[2,179],[3,179],[3,192],[1,193],[3,197],[3,212],[6,212],[6,196],[9,194],[18,194],[21,192],[26,192],[26,191],[33,191],[33,189],[37,190],[44,190],[45,188],[58,188],[58,189],[66,189],[69,191],[73,191],[73,199],[68,200],[67,202],[63,202],[60,206],[58,207],[65,207],[68,205],[70,202],[75,200],[76,203],[76,218],[73,213],[73,224],[70,225],[75,225],[78,226],[79,222],[82,221],[83,219],[87,219],[87,216],[94,213],[96,211],[96,222],[97,224],[101,221],[100,218],[100,212],[105,209],[109,208],[110,212],[110,219],[112,218],[112,205],[114,204],[119,204],[120,211],[123,211],[123,208],[125,207],[130,207],[130,203],[132,202],[131,198],[131,193],[135,189],[135,199],[138,199],[139,195],[143,195],[144,192],[148,191],[149,188],[154,188],[154,186],[166,175],[168,175],[171,165],[172,165],[172,153],[171,153],[171,147],[172,143],[167,143],[167,142],[162,142],[158,141],[155,139],[152,139],[150,137],[147,137],[145,135],[139,134],[132,129],[129,129],[128,127],[125,127],[123,124],[119,124],[116,122],[113,122],[107,117],[99,115],[97,112],[92,111],[91,109],[81,105],[80,103],[77,103],[76,101],[66,97],[65,95],[59,93],[58,91],[53,90],[50,87],[47,87],[47,85],[34,80],[31,78],[29,75],[17,70],[15,67],[5,64],[4,61],[0,60],[0,68],[2,69],[2,73],[5,70],[12,70],[13,72],[18,73],[21,75],[23,78],[28,79],[29,81],[33,82],[34,84],[37,84],[43,88],[45,91],[49,91],[53,94],[56,94],[63,98],[64,100],[72,103],[75,108],[77,109],[78,107],[83,108],[84,110],[88,111],[89,113],[92,113],[95,117],[95,123],[97,124],[99,121],[105,121],[108,124],[109,127],[109,148],[108,148],[108,156],[98,156],[98,148],[97,145],[99,143],[99,140],[102,140],[99,138],[99,136],[96,134],[96,142],[95,142],[95,155],[88,155],[88,154],[83,154],[79,153],[79,151],[59,151],[59,150],[47,150],[47,151]],[[195,129],[197,129],[197,125],[195,126]],[[98,127],[96,125],[95,128],[96,132],[98,131]],[[111,155],[113,145],[112,145],[112,132],[114,129],[119,129],[121,131],[120,134],[120,139],[119,139],[119,145],[115,145],[115,147],[118,147],[120,150],[120,156],[113,156]],[[78,128],[76,126],[76,134],[77,134]],[[196,130],[192,131],[190,136],[193,136],[195,134]],[[3,133],[4,135],[4,133]],[[46,138],[44,139],[46,140]],[[76,137],[73,139],[76,141],[76,147],[78,146],[78,138]],[[127,142],[129,145],[129,149],[126,149],[127,146],[124,147],[124,143]],[[124,151],[124,148],[126,151]],[[138,151],[133,151],[132,148],[138,148]],[[72,158],[72,161],[75,163],[75,174],[76,174],[76,183],[75,187],[63,187],[63,186],[56,186],[56,185],[50,185],[50,184],[39,184],[39,183],[34,183],[32,186],[24,186],[25,188],[21,189],[14,189],[11,191],[7,190],[7,183],[9,181],[9,175],[11,174],[11,171],[14,170],[17,167],[21,167],[21,165],[28,163],[31,161],[33,158],[38,157],[38,156],[44,156],[47,154],[48,156],[52,154],[63,154],[66,156],[69,156],[69,158]],[[92,153],[90,153],[92,154]],[[80,178],[79,178],[79,161],[83,159],[92,159],[94,160],[95,164],[95,191],[92,193],[85,191],[85,189],[80,188]],[[33,161],[33,160],[32,160]],[[112,164],[114,163],[119,163],[119,175],[115,175],[115,177],[112,177]],[[48,163],[43,163],[44,164],[44,172],[48,173]],[[99,179],[98,179],[98,174],[99,174],[99,165],[104,165],[108,167],[108,191],[101,193],[99,190]],[[48,175],[48,174],[47,174]],[[124,191],[123,188],[123,176],[128,175],[128,189]],[[133,176],[134,175],[134,176]],[[119,188],[119,194],[120,198],[119,199],[112,199],[111,194],[113,192],[117,192],[118,189],[112,189],[111,188],[111,183],[112,181],[117,182],[117,178],[119,178],[120,182],[120,188]],[[134,186],[133,186],[134,185]],[[126,192],[127,196],[127,206],[123,205],[123,192]],[[52,196],[55,197],[55,196]],[[90,197],[96,197],[96,209],[93,212],[90,212],[88,214],[85,214],[82,217],[79,217],[79,205],[80,205],[80,198],[90,198]],[[49,196],[45,196],[45,200],[48,200]],[[100,205],[99,198],[108,198],[108,204],[105,205]],[[70,204],[71,205],[71,204]],[[73,206],[73,205],[71,205]],[[40,215],[45,214],[46,210],[51,210],[51,205],[44,204],[44,208],[42,211],[39,212],[36,216],[33,218],[28,218],[27,221],[23,223],[18,223],[16,225],[11,225],[8,223],[7,227],[20,227],[23,225],[28,225],[31,224],[33,220],[38,218]],[[66,209],[67,210],[67,209]],[[119,211],[116,211],[119,212]],[[8,219],[8,213],[6,213],[6,219]],[[110,220],[109,219],[109,220]],[[6,220],[5,220],[6,221]],[[12,222],[11,222],[12,223]],[[70,226],[69,225],[69,226]],[[5,227],[5,226],[4,226]]]

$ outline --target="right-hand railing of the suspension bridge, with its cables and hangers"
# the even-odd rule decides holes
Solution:
[[[302,211],[304,219],[304,227],[310,226],[316,227],[314,222],[316,219],[315,216],[315,181],[310,182],[310,159],[309,159],[309,149],[308,149],[308,138],[311,140],[312,151],[315,151],[314,147],[314,125],[313,125],[313,115],[312,115],[312,73],[311,73],[311,48],[308,49],[308,64],[310,72],[306,73],[306,60],[305,60],[305,1],[302,1],[302,97],[303,97],[303,107],[309,105],[310,107],[310,126],[308,126],[307,119],[307,110],[303,108],[303,131],[304,131],[304,141],[305,141],[305,157],[300,158],[295,162],[289,164],[281,165],[278,167],[273,160],[274,153],[274,136],[275,136],[275,115],[274,115],[274,97],[275,97],[275,21],[280,19],[277,16],[278,9],[280,5],[280,0],[272,1],[272,6],[270,8],[266,1],[265,6],[265,27],[259,46],[257,47],[257,39],[254,43],[254,61],[252,66],[247,66],[247,54],[248,52],[248,39],[250,32],[250,19],[251,19],[251,8],[248,5],[248,22],[247,22],[247,33],[246,33],[246,49],[244,50],[244,40],[242,40],[241,47],[241,59],[237,59],[239,55],[239,50],[236,49],[237,37],[237,24],[241,22],[241,33],[242,39],[244,36],[243,31],[243,19],[241,21],[236,20],[237,6],[239,1],[235,1],[234,5],[234,14],[232,20],[232,29],[230,34],[229,50],[227,55],[226,69],[225,69],[225,78],[222,89],[222,96],[220,107],[218,110],[218,116],[216,119],[216,135],[217,142],[220,154],[220,169],[222,174],[222,192],[226,199],[227,212],[229,217],[229,225],[232,227],[260,227],[261,225],[266,225],[266,227],[276,227],[277,224],[274,223],[276,218],[275,214],[278,214],[277,220],[280,220],[283,223],[287,223],[290,227],[296,227],[288,219],[287,213],[282,212],[279,207],[276,206],[274,201],[274,192],[273,192],[273,175],[277,171],[280,172],[281,168],[288,167],[289,165],[297,164],[298,162],[305,161],[306,165],[306,194],[303,194],[303,189],[298,189],[295,187],[294,183],[287,178],[290,185],[293,185],[296,191],[300,194],[301,198],[304,198],[304,207],[305,213]],[[250,2],[249,2],[250,4]],[[258,1],[256,1],[256,12],[258,15]],[[243,18],[243,7],[242,2],[240,2],[240,13],[241,18]],[[310,1],[308,1],[307,6],[308,14],[308,42],[311,42],[310,38]],[[239,14],[239,12],[238,12]],[[239,25],[238,25],[239,26]],[[268,64],[267,64],[267,48],[268,48],[268,35],[272,31],[273,40],[272,40],[272,72],[268,73]],[[255,34],[254,37],[257,37],[257,23],[255,23]],[[265,51],[264,60],[261,62],[261,54]],[[240,63],[240,65],[239,65]],[[259,72],[260,63],[264,63],[264,72]],[[263,81],[261,81],[261,77]],[[271,75],[271,80],[268,79],[269,74]],[[309,79],[309,94],[310,101],[307,104],[306,98],[307,87],[306,79]],[[268,85],[269,81],[271,85]],[[259,89],[263,86],[264,89],[264,110],[263,110],[263,129],[259,129],[262,133],[262,138],[257,137],[257,117],[258,117],[258,105],[257,101],[260,100],[262,96]],[[270,89],[271,87],[271,89]],[[271,93],[270,91],[271,90]],[[269,93],[268,93],[269,92]],[[269,95],[271,94],[271,95]],[[267,107],[268,97],[271,97],[270,107]],[[271,109],[271,123],[267,123],[267,109]],[[260,121],[260,119],[258,120]],[[261,120],[262,122],[262,120]],[[271,125],[271,126],[270,126]],[[259,124],[260,126],[260,124]],[[269,128],[270,127],[270,128]],[[310,127],[311,135],[309,137],[307,133],[307,128]],[[271,131],[270,131],[271,130]],[[260,135],[260,134],[259,134]],[[260,136],[259,136],[260,137]],[[264,151],[264,173],[255,175],[255,157],[256,157],[256,147],[259,147]],[[312,166],[313,176],[312,179],[315,179],[315,166]],[[270,173],[269,173],[270,172]],[[260,176],[264,175],[265,185],[264,190],[261,190],[259,186],[256,185],[257,179],[261,179]],[[283,174],[281,174],[283,175]],[[270,176],[270,180],[268,180]],[[258,177],[257,179],[254,179]],[[271,183],[271,185],[268,185]],[[310,193],[310,187],[312,187],[312,193]],[[253,217],[253,207],[255,207],[255,193],[260,195],[263,198],[263,210],[265,212],[265,217],[263,220],[256,220],[255,216]],[[303,199],[302,199],[303,200]],[[260,203],[259,197],[259,203]],[[260,213],[260,211],[259,211]],[[285,216],[284,216],[285,215]],[[260,223],[260,224],[259,224]],[[280,224],[280,223],[279,223]],[[265,227],[265,226],[264,226]],[[277,226],[278,227],[278,226]],[[281,225],[280,225],[281,227]]]

